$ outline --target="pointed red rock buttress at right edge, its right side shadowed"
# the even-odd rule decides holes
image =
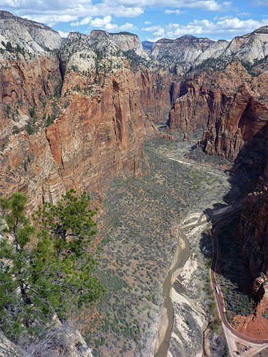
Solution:
[[[267,122],[268,105],[259,102],[247,85],[243,84],[221,116],[221,121],[212,124],[210,130],[204,133],[204,150],[207,154],[234,160],[238,154],[242,157],[241,149],[246,145],[246,155],[251,151],[252,155],[256,152],[258,157],[261,152],[265,152]],[[261,158],[262,163],[264,159]]]

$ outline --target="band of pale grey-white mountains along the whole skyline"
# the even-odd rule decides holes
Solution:
[[[127,56],[136,61],[148,61],[153,67],[161,66],[173,73],[186,73],[197,67],[221,69],[232,60],[239,60],[249,67],[266,60],[268,26],[236,36],[230,42],[184,35],[176,39],[161,38],[156,43],[141,43],[136,34],[103,30],[93,30],[89,35],[71,32],[67,39],[63,39],[47,25],[14,16],[8,11],[0,11],[0,49],[16,49],[17,46],[28,52],[52,49],[66,52],[69,46],[75,47],[76,51],[94,48],[107,56]]]

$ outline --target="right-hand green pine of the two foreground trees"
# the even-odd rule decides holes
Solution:
[[[45,203],[38,207],[34,219],[41,231],[52,239],[54,255],[60,268],[54,275],[58,289],[56,312],[67,319],[71,307],[81,308],[99,299],[104,288],[93,275],[98,265],[95,255],[93,235],[96,234],[96,211],[89,209],[90,196],[83,192],[80,196],[71,189],[56,205]]]

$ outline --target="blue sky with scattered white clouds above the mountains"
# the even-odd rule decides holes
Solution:
[[[268,0],[0,0],[0,10],[71,31],[127,31],[141,41],[185,34],[231,40],[268,25]]]

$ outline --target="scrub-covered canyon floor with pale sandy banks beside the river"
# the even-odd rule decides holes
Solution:
[[[203,216],[199,227],[192,225],[202,213],[208,219],[223,214],[243,196],[245,185],[225,170],[232,163],[194,149],[201,130],[190,133],[190,141],[174,136],[146,141],[143,176],[114,179],[105,191],[98,275],[107,292],[93,310],[78,316],[94,357],[154,355],[164,337],[159,337],[159,326],[165,330],[168,324],[166,314],[159,314],[162,290],[183,225],[189,225],[190,257],[168,288],[174,321],[169,317],[165,356],[201,356],[203,339],[205,348],[211,345],[211,356],[227,356],[209,279],[210,224]],[[197,160],[199,169],[187,158]]]

